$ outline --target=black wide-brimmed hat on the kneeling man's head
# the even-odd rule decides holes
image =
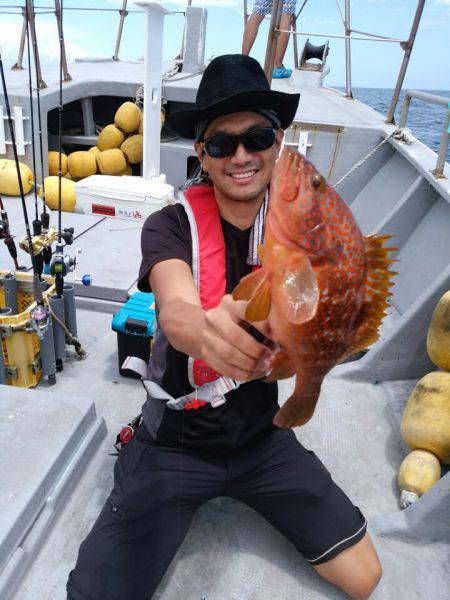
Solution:
[[[225,54],[212,60],[200,81],[195,108],[177,111],[166,120],[176,135],[194,139],[202,121],[244,110],[268,110],[278,116],[283,129],[294,120],[300,94],[270,89],[257,60],[244,54]]]

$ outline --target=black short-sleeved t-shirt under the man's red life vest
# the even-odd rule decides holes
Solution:
[[[252,269],[247,264],[251,229],[242,231],[224,219],[221,226],[225,240],[226,292],[231,293]],[[181,204],[166,206],[148,217],[142,230],[141,247],[138,288],[143,292],[151,291],[148,275],[156,263],[178,258],[191,266],[192,238]],[[192,391],[187,360],[186,354],[168,344],[161,385],[175,398]],[[227,394],[227,402],[217,408],[210,404],[187,411],[166,408],[157,432],[158,441],[216,452],[241,447],[274,429],[272,419],[278,410],[277,395],[276,383],[252,381]]]

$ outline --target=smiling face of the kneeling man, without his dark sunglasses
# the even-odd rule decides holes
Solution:
[[[203,137],[218,133],[241,134],[255,127],[271,127],[262,115],[253,112],[238,112],[214,119]],[[233,156],[212,158],[202,154],[202,145],[195,144],[203,170],[220,192],[235,202],[248,202],[261,195],[269,185],[272,170],[278,157],[283,130],[278,130],[275,144],[262,152],[249,152],[239,144]]]

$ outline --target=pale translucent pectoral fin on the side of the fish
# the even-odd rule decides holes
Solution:
[[[280,306],[290,323],[300,325],[315,317],[320,297],[319,283],[311,262],[304,254],[285,268],[278,293]]]

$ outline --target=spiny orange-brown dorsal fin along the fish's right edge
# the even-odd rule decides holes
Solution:
[[[355,322],[356,335],[342,360],[365,350],[378,340],[378,329],[386,315],[389,297],[392,296],[389,292],[394,285],[391,279],[397,275],[395,271],[389,270],[389,266],[395,262],[389,259],[389,254],[397,248],[384,247],[390,237],[369,235],[364,238],[367,260],[365,297]]]

